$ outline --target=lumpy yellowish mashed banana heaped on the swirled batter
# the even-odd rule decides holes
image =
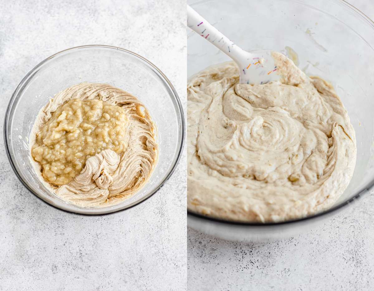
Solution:
[[[117,154],[128,146],[129,119],[125,111],[98,99],[71,99],[57,108],[36,133],[33,158],[52,184],[68,184],[86,159],[110,149]]]

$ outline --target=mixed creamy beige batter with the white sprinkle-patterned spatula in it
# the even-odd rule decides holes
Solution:
[[[277,222],[327,209],[356,163],[355,131],[334,88],[273,53],[281,82],[239,84],[227,62],[187,86],[191,211]]]

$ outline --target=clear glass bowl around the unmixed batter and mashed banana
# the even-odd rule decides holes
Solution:
[[[38,111],[57,92],[81,82],[109,83],[145,104],[158,128],[159,161],[148,182],[112,206],[83,208],[61,200],[40,183],[30,160],[28,137]],[[137,205],[154,194],[174,171],[184,143],[184,115],[177,92],[145,58],[112,46],[80,46],[58,52],[33,68],[14,91],[5,114],[4,139],[10,164],[31,193],[60,209],[107,214]]]

